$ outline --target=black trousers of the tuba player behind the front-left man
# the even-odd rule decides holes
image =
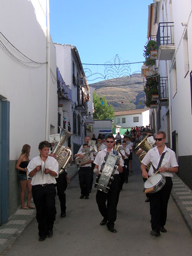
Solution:
[[[67,173],[64,171],[59,174],[59,177],[56,178],[56,187],[57,187],[57,195],[60,201],[61,212],[66,212],[66,189],[67,189]]]

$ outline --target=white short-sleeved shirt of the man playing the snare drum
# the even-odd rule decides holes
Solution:
[[[166,164],[164,166],[165,168],[177,167],[178,164],[177,164],[175,152],[173,150],[167,148],[166,145],[165,145],[165,148],[164,148],[163,152],[166,152],[166,153],[163,157],[161,167],[164,166],[165,164]],[[144,159],[142,160],[142,163],[147,166],[151,162],[152,165],[157,169],[160,158],[161,158],[161,155],[159,155],[159,151],[158,151],[158,148],[156,146],[155,148],[152,148],[147,152]],[[149,169],[149,176],[154,174],[152,165]],[[165,177],[173,177],[173,174],[169,173],[169,172],[161,173],[161,175],[163,175]]]

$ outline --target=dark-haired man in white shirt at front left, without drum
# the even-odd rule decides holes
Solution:
[[[36,220],[39,228],[39,241],[46,236],[53,236],[53,226],[56,215],[56,177],[59,165],[52,156],[48,156],[49,142],[39,144],[40,156],[34,157],[28,165],[28,176],[32,178],[33,202],[36,206]]]

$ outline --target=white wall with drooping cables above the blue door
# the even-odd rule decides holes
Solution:
[[[8,50],[25,62],[21,64],[0,46],[0,95],[10,102],[10,160],[18,159],[22,145],[25,143],[31,145],[30,158],[36,156],[39,142],[45,140],[45,7],[46,0],[38,2],[4,0],[1,2],[1,32],[19,51],[37,62],[31,62],[21,55],[0,35]],[[53,52],[53,62],[54,58]],[[53,63],[53,70],[54,65]],[[53,96],[53,93],[51,95]],[[50,117],[50,121],[54,124],[53,119],[53,116]]]

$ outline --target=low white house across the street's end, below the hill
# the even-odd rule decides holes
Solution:
[[[124,129],[149,125],[149,109],[134,109],[114,112],[113,123]]]

